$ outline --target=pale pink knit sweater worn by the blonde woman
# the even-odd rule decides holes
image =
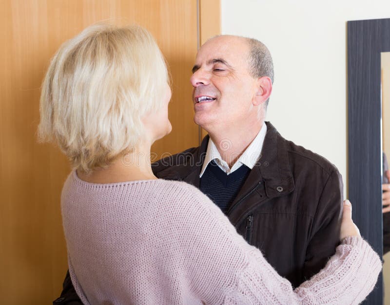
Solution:
[[[349,237],[293,290],[185,182],[94,184],[73,171],[61,208],[69,271],[84,304],[358,304],[382,267],[367,242]]]

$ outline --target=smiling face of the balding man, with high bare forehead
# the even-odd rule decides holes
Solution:
[[[248,56],[247,42],[235,36],[215,37],[199,49],[191,76],[196,124],[213,132],[254,115],[257,86]]]

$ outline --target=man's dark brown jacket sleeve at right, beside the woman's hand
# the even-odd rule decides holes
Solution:
[[[302,281],[322,269],[334,254],[339,243],[342,211],[343,180],[334,169],[325,183],[313,218]]]

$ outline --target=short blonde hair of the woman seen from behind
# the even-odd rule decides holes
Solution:
[[[105,167],[143,137],[141,118],[162,107],[169,81],[144,28],[89,26],[54,55],[40,96],[39,142],[57,142],[85,173]]]

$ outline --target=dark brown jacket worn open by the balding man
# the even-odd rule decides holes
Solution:
[[[227,216],[237,232],[297,287],[323,268],[335,252],[343,182],[333,164],[287,141],[271,123],[266,124],[261,157]],[[199,147],[153,163],[153,172],[158,178],[183,180],[199,187],[208,141],[206,136]],[[74,300],[67,274],[61,302],[55,304],[81,304]]]

